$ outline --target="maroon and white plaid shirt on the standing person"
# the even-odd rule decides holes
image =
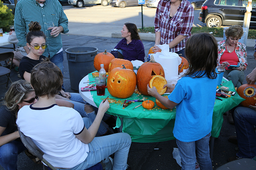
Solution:
[[[170,19],[170,0],[160,0],[156,9],[155,32],[161,32],[160,44],[169,44],[178,35],[187,36],[171,52],[185,48],[194,22],[194,8],[187,0],[182,0],[175,15]]]

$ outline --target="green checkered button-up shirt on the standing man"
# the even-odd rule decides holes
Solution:
[[[28,24],[31,21],[37,21],[41,25],[41,30],[46,36],[47,48],[45,48],[44,56],[50,57],[57,54],[62,48],[61,35],[52,37],[50,31],[47,30],[47,23],[54,23],[54,26],[62,26],[63,32],[68,33],[68,18],[58,0],[45,0],[44,6],[41,7],[36,0],[20,0],[15,8],[14,27],[18,46],[26,46],[26,35],[29,32]]]

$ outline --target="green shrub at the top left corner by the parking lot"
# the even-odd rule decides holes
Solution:
[[[14,15],[12,11],[0,1],[0,28],[4,31],[10,30],[10,25],[13,25]]]

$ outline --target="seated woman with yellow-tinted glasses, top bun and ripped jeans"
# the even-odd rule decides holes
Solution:
[[[36,64],[42,61],[48,61],[49,59],[44,57],[44,49],[47,48],[46,36],[41,31],[41,26],[38,22],[31,22],[29,24],[29,32],[26,37],[27,46],[30,52],[27,56],[24,56],[20,61],[20,77],[30,82],[31,71]],[[79,93],[69,93],[60,91],[61,95],[56,95],[56,99],[68,100],[74,104],[74,109],[80,113],[82,117],[88,117],[93,122],[96,114],[92,106],[87,105],[87,102],[83,100]],[[60,100],[61,101],[61,100]],[[58,104],[58,103],[57,103]],[[106,114],[108,118],[109,115]],[[100,124],[97,136],[108,134],[108,125],[102,121]]]

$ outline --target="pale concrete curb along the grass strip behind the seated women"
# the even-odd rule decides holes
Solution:
[[[147,41],[155,41],[155,34],[154,33],[139,33],[141,40]],[[113,38],[122,38],[121,33],[112,33],[111,37]],[[216,41],[222,41],[223,37],[215,37]],[[246,47],[254,47],[255,40],[254,39],[247,39]]]

